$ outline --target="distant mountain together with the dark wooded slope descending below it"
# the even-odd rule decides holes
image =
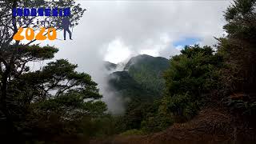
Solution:
[[[122,71],[109,76],[110,90],[123,98],[125,114],[118,122],[121,131],[140,129],[146,114],[154,114],[154,100],[161,98],[164,89],[162,73],[167,69],[166,58],[138,55],[131,58]]]

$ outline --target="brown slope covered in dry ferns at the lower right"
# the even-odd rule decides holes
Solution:
[[[242,123],[234,122],[227,110],[209,107],[190,122],[177,123],[168,129],[148,135],[117,135],[108,139],[93,140],[92,144],[194,144],[194,143],[254,143],[254,133],[242,130]]]

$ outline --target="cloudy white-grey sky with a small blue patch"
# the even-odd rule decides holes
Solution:
[[[127,62],[138,54],[170,58],[185,45],[213,46],[214,37],[225,34],[222,15],[230,5],[229,0],[77,2],[86,12],[73,29],[74,40],[63,41],[58,32],[58,40],[43,44],[58,47],[55,58],[78,64],[100,89],[106,85],[103,61]]]

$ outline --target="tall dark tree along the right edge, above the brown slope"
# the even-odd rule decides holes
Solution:
[[[222,69],[222,90],[227,106],[244,121],[256,120],[256,1],[235,0],[224,14],[228,34],[218,38],[218,54],[225,58]]]

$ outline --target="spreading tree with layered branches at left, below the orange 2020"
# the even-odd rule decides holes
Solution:
[[[21,46],[19,51],[19,56],[24,58],[44,59],[52,58],[57,50]],[[18,62],[15,64],[16,68],[20,65]],[[2,110],[2,134],[15,133],[25,140],[90,134],[82,125],[85,122],[90,125],[93,119],[106,111],[106,104],[98,101],[102,95],[98,94],[97,84],[90,75],[76,72],[77,66],[64,59],[50,62],[42,70],[34,72],[29,71],[29,66],[22,67],[26,71],[12,71],[14,76],[7,83],[8,115]]]

